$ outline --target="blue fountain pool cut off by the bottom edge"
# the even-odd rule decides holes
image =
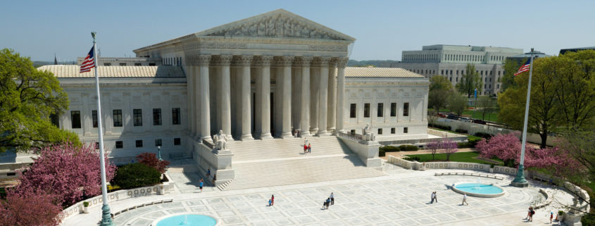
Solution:
[[[166,215],[151,223],[151,226],[215,226],[215,217],[198,213],[179,213]]]

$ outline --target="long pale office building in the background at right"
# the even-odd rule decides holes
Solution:
[[[522,49],[438,44],[422,46],[418,51],[403,51],[401,62],[395,66],[428,78],[442,75],[454,85],[465,74],[468,63],[472,63],[484,82],[481,94],[491,95],[500,90],[504,60],[520,54]]]

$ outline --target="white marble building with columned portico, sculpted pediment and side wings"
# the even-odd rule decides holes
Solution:
[[[123,164],[156,146],[165,158],[196,158],[205,145],[226,149],[223,141],[362,139],[363,127],[379,142],[435,138],[427,134],[427,78],[401,68],[347,68],[353,42],[279,9],[135,49],[138,62],[99,58],[110,156]],[[95,68],[39,70],[54,73],[70,99],[55,123],[96,141]],[[218,159],[212,168],[223,164]]]

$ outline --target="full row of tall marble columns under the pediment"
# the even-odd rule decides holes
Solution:
[[[230,67],[239,68],[237,89],[239,99],[235,111],[241,111],[240,120],[235,125],[241,128],[242,140],[273,139],[292,137],[292,94],[299,95],[299,111],[295,111],[299,123],[294,130],[299,130],[301,137],[310,135],[326,136],[329,132],[343,130],[345,66],[347,58],[314,56],[232,56],[199,55],[189,58],[187,67],[187,89],[190,115],[190,132],[194,139],[211,140],[211,119],[217,118],[216,131],[223,130],[232,139],[231,112],[231,75]],[[271,65],[276,70],[275,109],[270,115],[270,77]],[[335,70],[337,67],[337,70]],[[217,68],[218,82],[211,82],[209,68]],[[251,70],[255,68],[255,70]],[[298,71],[299,90],[292,90],[292,68]],[[337,75],[335,75],[337,71]],[[256,98],[254,101],[254,133],[252,132],[251,111],[251,72],[256,72]],[[212,72],[211,72],[212,74]],[[337,78],[335,80],[335,77]],[[215,95],[211,98],[211,87],[215,85]],[[211,101],[218,117],[211,115]],[[272,134],[270,128],[273,117]],[[237,130],[238,131],[238,130]]]

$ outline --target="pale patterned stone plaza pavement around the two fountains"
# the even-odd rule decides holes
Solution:
[[[551,207],[539,209],[533,222],[523,220],[528,206],[542,199],[539,187],[550,189],[539,183],[520,189],[508,186],[512,180],[508,175],[499,175],[504,180],[481,178],[481,182],[501,185],[507,193],[498,198],[468,197],[469,206],[461,206],[461,194],[447,185],[477,182],[478,177],[434,176],[434,172],[470,170],[414,171],[387,164],[386,172],[389,175],[382,177],[258,189],[222,192],[211,187],[202,193],[198,189],[189,193],[176,190],[162,196],[125,199],[110,206],[115,212],[150,201],[173,199],[172,203],[118,215],[115,217],[118,226],[150,225],[157,218],[184,212],[215,216],[220,225],[549,225]],[[438,202],[430,204],[430,194],[434,191]],[[335,204],[329,210],[322,210],[322,202],[331,192]],[[268,206],[271,194],[275,195],[274,206]],[[571,199],[568,194],[560,197],[565,201]],[[69,218],[63,225],[96,225],[100,216],[101,206],[96,206],[89,208],[88,214]]]

